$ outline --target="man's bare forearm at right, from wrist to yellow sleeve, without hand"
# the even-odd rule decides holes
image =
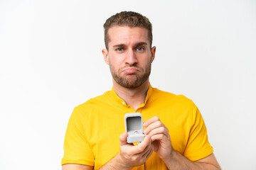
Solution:
[[[210,162],[191,162],[182,154],[173,149],[171,156],[164,160],[168,169],[174,170],[220,170],[218,164],[211,164]]]

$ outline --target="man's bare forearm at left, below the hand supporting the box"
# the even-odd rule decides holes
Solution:
[[[128,167],[124,166],[122,164],[122,160],[120,159],[119,153],[110,160],[110,162],[107,162],[104,166],[100,167],[99,170],[119,170],[119,169],[124,169],[124,170],[129,170]]]

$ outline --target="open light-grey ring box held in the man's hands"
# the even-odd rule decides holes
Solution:
[[[127,143],[142,142],[145,135],[143,134],[143,119],[141,113],[127,113],[124,115],[125,131],[128,133]]]

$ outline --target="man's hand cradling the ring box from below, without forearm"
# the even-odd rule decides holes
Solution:
[[[124,132],[119,136],[120,138],[120,152],[119,157],[125,169],[131,169],[134,166],[144,164],[153,152],[151,139],[146,135],[144,140],[139,145],[132,145],[127,143],[128,133]]]

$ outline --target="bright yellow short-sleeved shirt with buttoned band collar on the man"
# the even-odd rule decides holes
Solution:
[[[112,91],[76,107],[65,134],[61,164],[85,164],[99,169],[119,152],[119,135],[126,113],[142,113],[145,120],[158,116],[169,129],[171,145],[191,161],[213,153],[206,125],[196,105],[182,95],[149,86],[146,100],[136,111]],[[167,169],[155,152],[142,166],[133,169]]]

